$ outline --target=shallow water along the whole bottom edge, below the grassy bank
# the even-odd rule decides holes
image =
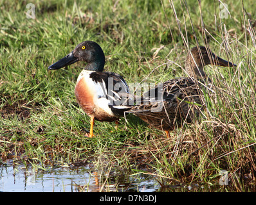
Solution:
[[[35,171],[37,170],[37,171]],[[221,179],[221,178],[220,178]],[[161,186],[153,176],[125,170],[95,170],[91,163],[79,167],[25,167],[0,165],[0,192],[255,192],[255,184],[172,184]],[[233,184],[234,185],[234,184]]]

